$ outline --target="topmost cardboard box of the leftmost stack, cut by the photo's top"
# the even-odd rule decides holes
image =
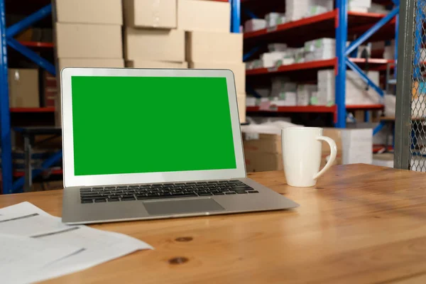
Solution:
[[[121,0],[55,0],[58,23],[106,23],[121,26]]]

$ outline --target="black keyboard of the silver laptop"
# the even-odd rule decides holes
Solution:
[[[219,180],[209,182],[155,183],[152,185],[83,187],[80,188],[80,199],[82,203],[97,203],[213,195],[246,195],[252,193],[258,193],[258,191],[239,180]]]

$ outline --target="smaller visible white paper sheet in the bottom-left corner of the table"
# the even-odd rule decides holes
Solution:
[[[75,246],[0,234],[1,283],[26,283],[22,275],[35,275],[45,266],[76,253]]]

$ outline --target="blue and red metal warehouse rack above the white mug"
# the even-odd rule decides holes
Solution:
[[[256,0],[241,0],[243,7],[245,4],[252,7]],[[272,28],[263,28],[259,31],[244,33],[244,48],[248,51],[244,58],[247,59],[251,55],[258,53],[261,50],[260,45],[267,43],[287,43],[290,46],[302,46],[308,40],[317,38],[336,38],[336,58],[330,60],[317,60],[313,62],[303,62],[293,65],[283,65],[273,68],[258,68],[255,70],[246,70],[246,76],[249,77],[266,77],[268,75],[277,74],[295,74],[302,70],[306,72],[317,72],[321,69],[334,68],[336,71],[335,82],[335,105],[332,107],[273,107],[272,112],[332,112],[334,114],[334,125],[340,128],[346,127],[346,111],[350,109],[383,109],[383,105],[362,105],[362,106],[346,106],[345,104],[345,88],[346,88],[346,70],[351,69],[356,72],[366,84],[372,89],[375,89],[378,95],[383,97],[383,90],[376,86],[367,77],[361,69],[366,64],[364,58],[349,58],[349,55],[356,50],[366,40],[389,40],[398,38],[398,12],[399,0],[378,1],[380,4],[393,4],[393,10],[387,15],[379,13],[359,13],[347,11],[347,0],[336,0],[336,7],[333,11],[322,13],[309,18],[302,18],[298,21],[282,23]],[[258,2],[257,2],[258,3]],[[261,13],[275,11],[273,6],[278,1],[264,4],[265,7]],[[269,10],[268,10],[269,9]],[[254,15],[251,11],[248,12]],[[346,40],[348,38],[356,38],[346,48]],[[398,40],[395,40],[395,60],[397,59],[396,50]],[[368,59],[369,70],[383,70],[395,60],[384,59]],[[394,65],[393,65],[394,66]],[[256,107],[248,107],[248,112],[259,111]],[[366,120],[368,117],[366,117]],[[379,129],[374,129],[376,133]]]

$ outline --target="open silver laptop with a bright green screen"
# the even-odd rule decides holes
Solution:
[[[230,70],[67,67],[61,87],[62,222],[298,206],[247,178]]]

